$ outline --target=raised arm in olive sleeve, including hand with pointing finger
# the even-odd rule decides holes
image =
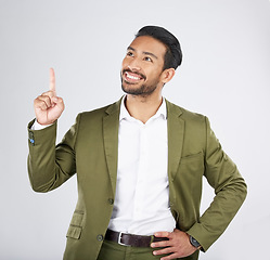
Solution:
[[[37,192],[48,192],[61,185],[75,173],[75,131],[72,129],[55,150],[56,119],[64,110],[63,100],[56,96],[55,76],[50,69],[50,90],[34,101],[37,122],[51,125],[42,130],[30,130],[28,126],[29,156],[28,173],[31,186]]]

